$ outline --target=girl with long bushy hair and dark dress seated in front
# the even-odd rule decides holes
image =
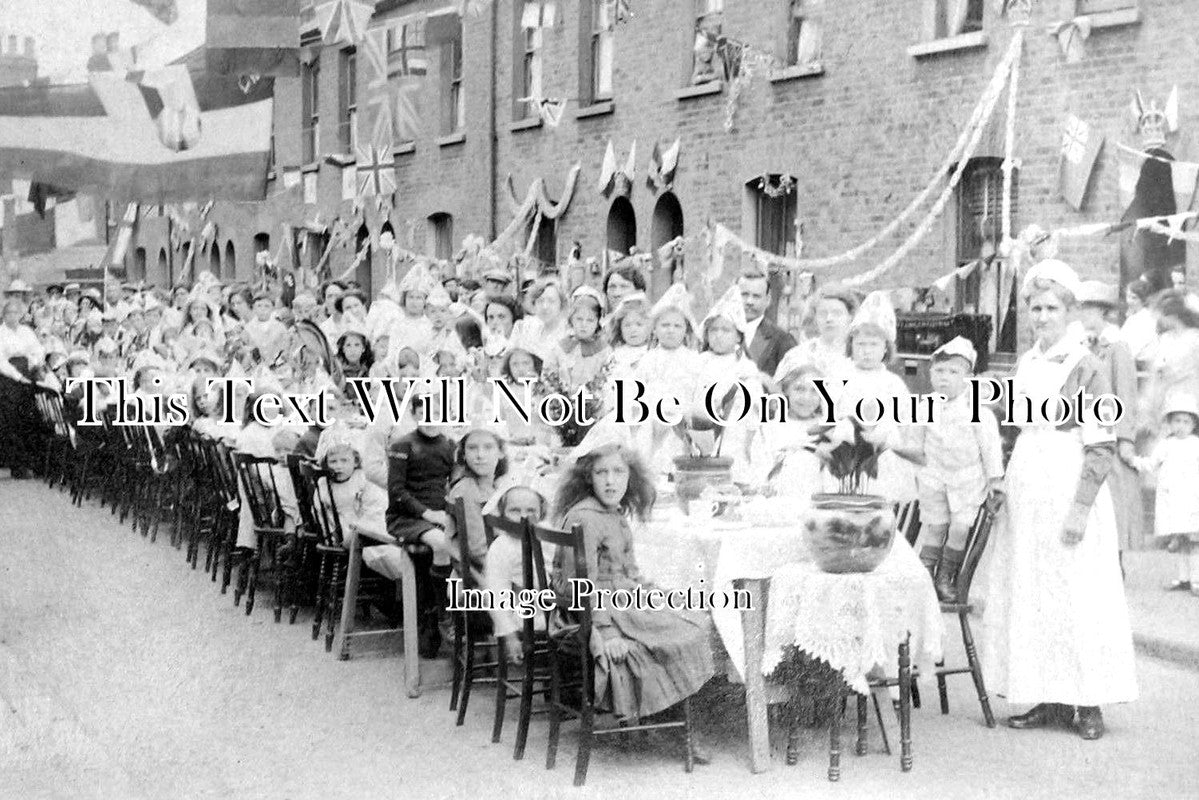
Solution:
[[[588,577],[597,589],[649,587],[633,557],[628,518],[646,519],[655,491],[640,457],[617,435],[592,431],[576,449],[558,489],[565,529],[583,528]],[[559,548],[554,588],[568,591],[574,560]],[[664,711],[698,692],[713,675],[707,614],[641,608],[596,609],[591,652],[596,697],[621,718]]]

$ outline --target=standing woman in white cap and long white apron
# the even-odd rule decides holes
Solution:
[[[1041,261],[1025,277],[1022,295],[1036,341],[1020,357],[1014,386],[1034,407],[1110,389],[1103,365],[1068,336],[1080,293],[1062,261]],[[1099,706],[1137,699],[1107,486],[1115,437],[1089,420],[1093,415],[1076,411],[1056,426],[1022,425],[987,554],[980,637],[988,682],[1008,703],[1032,704],[1008,718],[1010,727],[1062,727],[1087,740],[1104,733]]]

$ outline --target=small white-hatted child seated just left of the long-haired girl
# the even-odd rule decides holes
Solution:
[[[548,513],[546,498],[530,486],[514,483],[505,492],[496,492],[493,500],[483,507],[484,513],[498,513],[505,519],[520,522],[529,519],[538,523]],[[549,563],[554,558],[553,548],[542,545],[542,554],[547,571]],[[536,578],[535,578],[536,579]],[[512,590],[512,585],[524,587],[524,571],[522,569],[520,539],[512,536],[507,531],[500,531],[487,549],[487,560],[483,566],[483,587],[492,593],[493,597],[501,597]],[[529,588],[529,587],[525,587]],[[540,587],[537,587],[540,589]],[[492,609],[492,627],[495,638],[504,642],[504,652],[511,663],[520,663],[520,618],[516,612]],[[546,620],[542,614],[534,616],[534,624],[544,628]]]

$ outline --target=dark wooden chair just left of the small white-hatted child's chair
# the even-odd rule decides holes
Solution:
[[[466,505],[458,498],[446,509],[454,522],[458,537],[458,573],[464,596],[478,591],[478,581],[470,555],[470,537],[466,535]],[[450,710],[458,711],[457,726],[466,721],[466,705],[470,703],[470,690],[476,680],[484,684],[496,681],[499,643],[490,634],[492,619],[484,610],[454,610],[453,615],[453,679],[450,687]],[[476,662],[478,652],[484,654],[482,662]]]

